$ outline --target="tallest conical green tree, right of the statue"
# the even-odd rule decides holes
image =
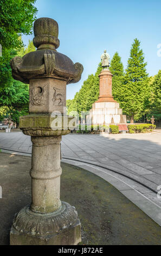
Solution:
[[[134,39],[125,71],[124,85],[120,92],[122,99],[120,105],[123,107],[123,112],[130,117],[131,123],[134,121],[134,115],[137,114],[139,119],[144,113],[145,102],[150,95],[146,65],[143,51],[140,50],[140,42]]]

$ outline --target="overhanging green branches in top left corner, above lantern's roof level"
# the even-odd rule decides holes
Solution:
[[[20,34],[31,34],[36,19],[36,0],[0,1],[0,44],[3,49],[20,48]],[[4,52],[2,52],[4,54]]]

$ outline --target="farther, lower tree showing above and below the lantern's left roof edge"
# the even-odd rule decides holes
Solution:
[[[18,52],[15,50],[10,52],[12,53],[12,57],[15,55],[22,57],[24,54],[34,50],[36,50],[36,48],[33,42],[29,40],[29,44],[26,48],[22,47]],[[3,77],[3,81],[0,83],[0,118],[2,119],[2,116],[3,118],[10,117],[12,121],[18,125],[19,117],[28,114],[29,111],[29,85],[12,78],[9,62],[3,65],[2,70],[4,77],[6,76],[6,80]]]

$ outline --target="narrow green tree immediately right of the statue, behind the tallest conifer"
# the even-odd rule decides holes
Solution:
[[[124,66],[121,62],[121,57],[118,52],[115,52],[110,65],[110,71],[113,75],[112,77],[112,95],[114,100],[120,102],[120,91],[123,86],[123,78],[124,78]]]

